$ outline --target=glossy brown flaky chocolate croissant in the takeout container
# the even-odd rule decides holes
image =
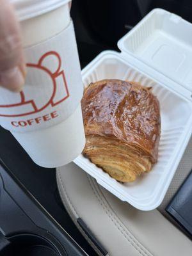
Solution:
[[[151,170],[157,162],[161,119],[150,88],[106,79],[86,88],[81,105],[85,156],[121,182]]]

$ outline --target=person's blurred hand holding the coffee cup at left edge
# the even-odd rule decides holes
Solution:
[[[0,0],[0,85],[20,92],[25,74],[19,22],[10,1]]]

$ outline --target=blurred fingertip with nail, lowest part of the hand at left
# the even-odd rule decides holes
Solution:
[[[24,76],[20,68],[14,67],[2,72],[0,74],[0,84],[13,92],[20,92],[24,86]]]

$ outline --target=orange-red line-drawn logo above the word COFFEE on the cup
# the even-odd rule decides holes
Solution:
[[[55,64],[56,68],[54,68],[53,64]],[[52,67],[54,70],[52,70]],[[64,70],[61,69],[61,58],[58,52],[46,52],[37,64],[28,63],[27,68],[28,74],[31,74],[28,84],[32,85],[28,86],[27,90],[24,88],[22,92],[14,93],[14,95],[12,92],[6,92],[6,94],[12,94],[10,99],[16,99],[17,102],[1,104],[0,99],[0,116],[31,115],[44,110],[47,106],[54,107],[69,97],[67,81]],[[44,83],[41,83],[40,79]],[[33,85],[33,83],[36,84]],[[36,88],[34,89],[33,86],[36,86]],[[31,95],[33,95],[33,99],[31,99]],[[4,100],[3,95],[1,96],[2,100]]]

